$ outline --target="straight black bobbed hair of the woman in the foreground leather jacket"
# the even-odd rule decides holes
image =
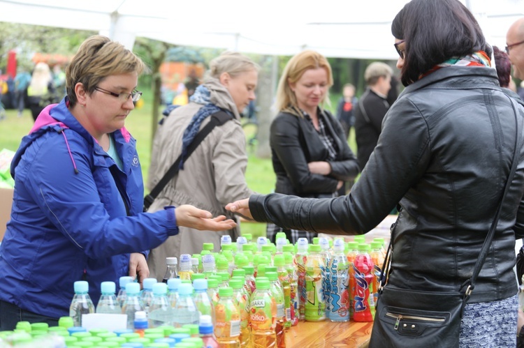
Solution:
[[[477,51],[491,55],[491,47],[472,15],[458,0],[412,0],[395,16],[391,33],[405,40],[404,86],[453,57]]]

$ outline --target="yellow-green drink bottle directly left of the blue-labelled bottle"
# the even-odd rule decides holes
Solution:
[[[306,321],[322,321],[326,319],[326,303],[323,301],[322,271],[326,267],[320,255],[321,246],[311,245],[310,254],[305,264],[305,319]]]

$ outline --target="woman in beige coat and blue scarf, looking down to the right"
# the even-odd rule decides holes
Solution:
[[[198,86],[190,103],[177,107],[164,119],[153,144],[150,190],[187,148],[198,130],[210,121],[210,114],[221,109],[233,116],[233,120],[215,127],[183,161],[183,169],[154,200],[149,211],[158,211],[169,205],[192,204],[213,215],[233,218],[224,206],[252,194],[245,181],[247,154],[240,112],[255,98],[258,70],[259,66],[246,56],[224,52],[211,61],[210,77]],[[233,241],[238,236],[235,230],[202,232],[180,227],[177,236],[151,250],[147,261],[150,276],[161,280],[166,271],[166,257],[199,253],[203,243],[214,243],[214,250],[218,251],[224,234],[230,234]]]

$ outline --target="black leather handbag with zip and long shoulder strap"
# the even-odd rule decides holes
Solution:
[[[467,300],[474,290],[476,278],[488,255],[488,250],[497,229],[502,202],[504,202],[504,198],[507,195],[518,163],[521,133],[513,100],[511,100],[511,105],[515,112],[516,121],[513,162],[511,163],[511,170],[502,199],[499,202],[486,240],[484,240],[482,245],[472,277],[463,283],[458,292],[425,292],[387,286],[387,276],[391,266],[393,250],[391,241],[393,241],[393,233],[395,232],[395,224],[393,224],[389,248],[380,275],[379,297],[371,333],[370,348],[458,347],[463,311]],[[383,287],[382,285],[385,286]]]

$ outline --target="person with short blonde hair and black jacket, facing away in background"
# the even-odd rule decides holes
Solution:
[[[367,89],[355,110],[355,136],[358,165],[364,169],[379,140],[382,120],[388,112],[388,91],[393,71],[386,63],[375,61],[364,72]]]

